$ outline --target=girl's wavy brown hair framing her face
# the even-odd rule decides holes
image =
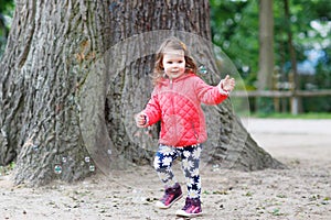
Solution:
[[[163,63],[164,53],[169,50],[173,50],[173,51],[182,50],[184,52],[185,73],[191,72],[193,74],[196,74],[197,72],[196,64],[194,59],[191,57],[186,45],[183,42],[181,42],[179,38],[172,36],[163,41],[163,43],[161,44],[160,48],[157,52],[156,64],[154,64],[154,69],[152,75],[153,85],[158,85],[164,77],[164,68],[162,63]]]

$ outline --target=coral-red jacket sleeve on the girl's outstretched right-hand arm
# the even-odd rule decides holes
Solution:
[[[228,97],[228,91],[223,90],[222,81],[217,86],[210,86],[196,77],[195,94],[205,105],[218,105]]]

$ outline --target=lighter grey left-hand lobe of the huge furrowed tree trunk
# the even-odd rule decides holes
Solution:
[[[79,88],[103,54],[104,7],[17,1],[0,88],[0,162],[15,160],[17,184],[71,182],[94,170],[79,129]]]

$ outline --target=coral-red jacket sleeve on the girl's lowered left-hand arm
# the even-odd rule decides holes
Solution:
[[[151,98],[143,110],[143,113],[147,118],[147,123],[145,127],[152,125],[161,119],[161,108],[159,105],[157,92],[152,92]]]

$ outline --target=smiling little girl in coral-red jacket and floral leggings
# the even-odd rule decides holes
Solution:
[[[170,208],[182,198],[181,186],[171,169],[177,157],[182,161],[188,187],[185,206],[177,211],[182,217],[202,215],[199,163],[207,135],[201,103],[221,103],[235,86],[228,76],[217,86],[209,86],[196,75],[196,69],[185,44],[175,37],[166,40],[157,52],[151,99],[135,118],[139,128],[161,121],[154,168],[166,193],[157,201],[158,208]]]

